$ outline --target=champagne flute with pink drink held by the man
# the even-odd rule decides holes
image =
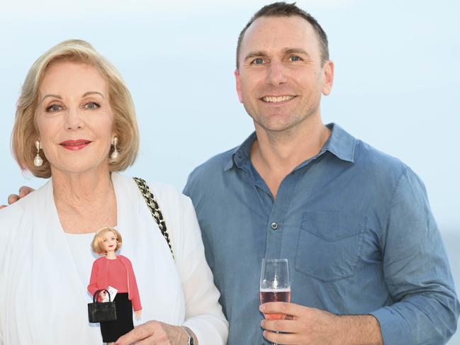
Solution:
[[[291,302],[288,259],[262,259],[260,303],[266,302]],[[284,319],[286,315],[264,314],[264,317],[265,319]]]

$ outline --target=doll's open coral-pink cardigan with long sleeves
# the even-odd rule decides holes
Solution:
[[[133,265],[126,256],[117,255],[117,258],[125,265],[126,272],[128,272],[126,277],[128,279],[128,299],[133,304],[133,310],[135,312],[142,310]],[[105,256],[101,256],[99,259],[94,260],[88,285],[88,291],[91,293],[91,296],[94,295],[97,290],[106,289],[108,285],[111,285],[111,283],[107,281],[107,266],[108,259],[106,259]]]

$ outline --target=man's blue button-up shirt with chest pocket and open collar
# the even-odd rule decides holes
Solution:
[[[385,344],[444,344],[459,302],[422,181],[338,125],[288,174],[276,200],[249,159],[256,135],[198,166],[191,196],[222,293],[230,345],[262,336],[262,258],[288,258],[291,302],[371,314]]]

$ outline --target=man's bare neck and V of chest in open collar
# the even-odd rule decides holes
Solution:
[[[257,140],[251,148],[251,162],[276,198],[283,179],[305,160],[315,157],[330,136],[330,130],[311,119],[302,128],[269,132],[256,125]]]

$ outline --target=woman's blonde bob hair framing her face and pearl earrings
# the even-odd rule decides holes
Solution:
[[[47,67],[53,62],[70,61],[89,64],[99,70],[108,85],[108,96],[113,111],[113,132],[118,137],[116,160],[111,159],[113,146],[108,152],[110,171],[123,171],[135,162],[139,150],[139,130],[135,116],[133,98],[115,67],[84,40],[66,40],[45,52],[30,67],[19,96],[16,118],[11,135],[11,149],[21,169],[30,171],[37,177],[51,176],[50,163],[43,150],[40,156],[43,165],[36,167],[33,159],[37,154],[35,141],[39,139],[35,123],[40,84]]]

